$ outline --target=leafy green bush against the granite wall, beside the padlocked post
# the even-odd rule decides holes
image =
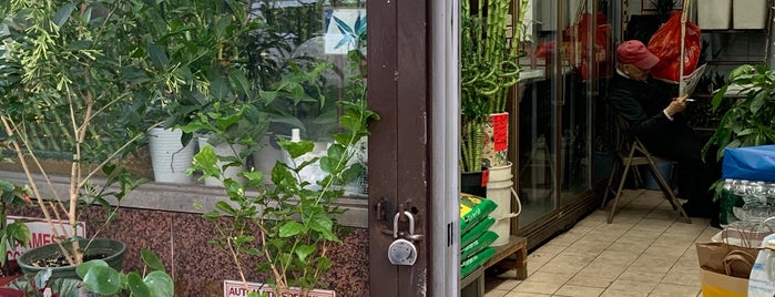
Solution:
[[[338,123],[346,132],[333,135],[327,154],[299,164],[277,162],[272,176],[246,171],[242,173],[245,182],[237,183],[224,177],[225,167],[214,166],[224,156],[206,148],[194,156],[192,170],[201,171],[203,178],[223,181],[230,198],[204,215],[218,228],[220,236],[211,239],[211,244],[225,250],[238,269],[247,265],[246,257],[261,256],[263,262],[256,269],[268,273],[267,283],[279,290],[324,285],[319,277],[332,265],[327,253],[332,244],[341,243],[338,237],[341,226],[336,217],[344,209],[336,205],[336,199],[344,194],[341,185],[364,172],[361,165],[349,162],[354,154],[349,147],[369,134],[367,124],[378,116],[366,107],[363,99],[339,101],[338,105],[344,110]],[[208,132],[223,135],[217,126],[206,127]],[[224,141],[232,143],[234,140],[226,137]],[[314,147],[309,141],[282,141],[279,145],[293,158]],[[299,172],[316,162],[327,176],[317,184],[302,180]],[[244,166],[238,162],[232,165]],[[273,186],[267,186],[266,181]],[[230,223],[224,223],[222,217],[230,217]]]

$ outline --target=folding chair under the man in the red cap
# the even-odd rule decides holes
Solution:
[[[619,197],[622,194],[622,188],[624,187],[624,182],[626,181],[630,171],[633,172],[633,175],[638,175],[638,170],[633,168],[633,166],[649,165],[649,168],[656,178],[656,183],[660,185],[662,193],[664,193],[665,198],[673,206],[673,211],[677,209],[681,213],[681,216],[684,218],[684,221],[691,224],[692,219],[689,217],[689,215],[686,215],[686,212],[683,209],[683,207],[681,207],[681,202],[675,195],[675,191],[667,183],[667,180],[662,175],[662,172],[656,167],[656,163],[672,163],[674,161],[664,157],[657,157],[649,153],[649,150],[646,150],[645,145],[643,145],[643,143],[638,137],[630,133],[630,125],[626,122],[626,120],[624,120],[624,117],[622,117],[619,114],[616,114],[616,119],[619,122],[620,131],[622,131],[622,137],[620,139],[620,142],[618,144],[618,158],[615,161],[613,171],[611,171],[611,175],[609,176],[608,185],[605,187],[605,194],[603,195],[603,203],[600,207],[601,209],[604,209],[609,194],[613,194],[613,205],[611,206],[611,209],[609,209],[608,223],[611,224],[611,222],[613,222],[613,215],[616,212]],[[614,190],[612,185],[614,184],[614,180],[616,178],[619,178],[619,186]]]

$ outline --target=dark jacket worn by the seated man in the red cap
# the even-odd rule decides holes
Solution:
[[[683,113],[670,121],[662,112],[677,94],[671,94],[664,82],[649,79],[635,81],[613,74],[609,103],[630,123],[630,132],[636,135],[650,150],[664,151],[672,141],[692,134]]]

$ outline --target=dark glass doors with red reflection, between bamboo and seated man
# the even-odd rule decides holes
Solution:
[[[531,1],[533,2],[533,1]],[[594,4],[598,4],[596,7]],[[532,4],[519,102],[520,227],[592,188],[592,109],[610,75],[608,1]],[[558,201],[559,198],[559,201]]]

